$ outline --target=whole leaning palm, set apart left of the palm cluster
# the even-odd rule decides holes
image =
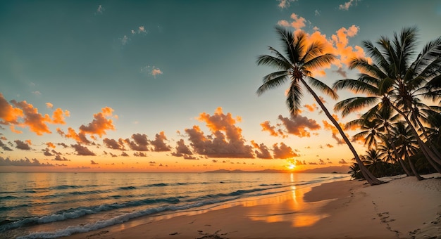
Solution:
[[[373,176],[373,174],[371,174],[371,172],[369,172],[363,165],[354,146],[352,146],[351,141],[349,141],[344,134],[342,127],[340,127],[340,124],[338,124],[321,99],[317,96],[316,92],[311,88],[311,86],[313,86],[331,98],[337,98],[337,94],[333,89],[330,89],[329,86],[314,78],[311,73],[312,70],[332,63],[333,60],[335,60],[335,56],[330,53],[323,53],[324,46],[318,41],[308,42],[306,34],[302,31],[294,34],[282,27],[276,27],[276,32],[282,41],[282,48],[285,51],[286,57],[271,46],[269,46],[269,50],[273,53],[273,56],[259,56],[257,59],[257,65],[268,65],[275,67],[278,71],[263,77],[263,84],[257,90],[257,94],[260,96],[268,89],[276,88],[289,80],[290,88],[287,91],[286,103],[290,109],[291,115],[296,116],[301,105],[302,86],[306,88],[306,91],[311,93],[323,112],[325,112],[325,115],[331,122],[333,122],[334,126],[340,132],[344,142],[347,143],[347,146],[349,146],[349,149],[354,154],[355,160],[359,164],[360,170],[366,181],[371,185],[384,183],[383,181],[376,179],[375,176]],[[308,79],[309,84],[305,79]]]

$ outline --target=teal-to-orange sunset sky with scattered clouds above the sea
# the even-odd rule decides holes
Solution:
[[[257,96],[275,26],[327,44],[337,60],[314,77],[332,86],[356,78],[362,41],[416,26],[422,49],[440,22],[435,0],[1,1],[0,171],[349,167],[312,96],[295,118],[288,84]],[[340,124],[360,113],[323,100]]]

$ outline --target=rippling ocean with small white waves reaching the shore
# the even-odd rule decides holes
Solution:
[[[302,173],[1,173],[0,238],[59,238],[348,179]]]

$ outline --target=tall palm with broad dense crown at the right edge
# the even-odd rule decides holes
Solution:
[[[411,134],[416,136],[426,159],[431,164],[433,161],[441,164],[435,147],[428,138],[428,145],[423,142],[411,122],[414,121],[423,130],[418,118],[421,114],[417,113],[418,108],[423,106],[419,97],[437,101],[441,96],[441,37],[426,44],[413,63],[411,57],[416,48],[416,28],[404,28],[399,36],[395,33],[393,41],[381,37],[377,41],[380,49],[371,41],[363,41],[363,44],[374,63],[364,58],[354,58],[350,68],[361,70],[359,79],[342,79],[334,84],[334,89],[352,89],[368,93],[369,96],[341,101],[335,105],[335,109],[342,110],[342,115],[347,115],[375,103],[370,110],[372,112],[378,110],[379,106],[393,108],[409,124]]]

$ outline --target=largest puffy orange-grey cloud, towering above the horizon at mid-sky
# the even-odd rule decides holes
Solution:
[[[233,118],[231,113],[225,115],[219,107],[214,115],[202,112],[197,120],[205,122],[211,134],[204,136],[196,125],[192,129],[185,129],[194,152],[207,157],[254,157],[252,147],[245,145],[242,129],[235,126],[236,122],[240,122],[240,117]]]

